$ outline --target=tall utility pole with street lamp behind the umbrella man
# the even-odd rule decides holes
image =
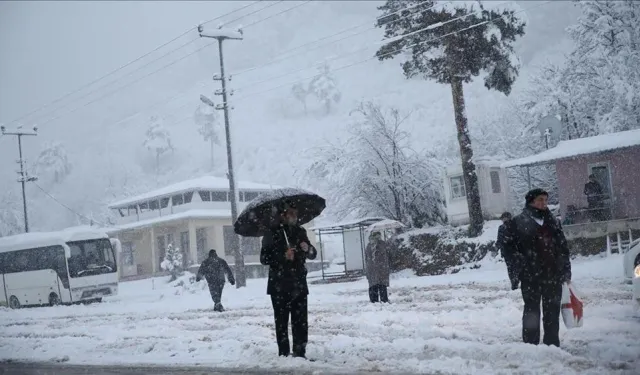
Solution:
[[[227,98],[227,81],[224,75],[224,57],[222,54],[222,42],[227,39],[242,40],[242,30],[234,31],[229,29],[214,29],[205,32],[202,25],[198,26],[198,33],[202,38],[212,38],[218,41],[218,51],[220,55],[220,75],[213,77],[214,81],[220,81],[222,83],[222,90],[216,90],[216,95],[222,95],[222,104],[215,105],[213,101],[204,95],[200,95],[200,100],[217,110],[224,111],[224,130],[227,141],[227,177],[229,178],[229,191],[231,192],[231,221],[235,223],[238,219],[238,194],[236,192],[236,182],[233,173],[233,157],[231,152],[231,131],[229,126],[229,100]],[[233,93],[230,93],[233,95]],[[240,248],[240,241],[238,235],[234,233],[229,244],[235,257],[235,273],[236,273],[236,288],[241,288],[247,285],[247,275],[244,268],[244,256],[242,249]]]

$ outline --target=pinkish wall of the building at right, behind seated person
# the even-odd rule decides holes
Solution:
[[[567,206],[586,208],[584,185],[589,165],[608,163],[611,173],[614,219],[640,217],[640,146],[556,162],[560,212]]]

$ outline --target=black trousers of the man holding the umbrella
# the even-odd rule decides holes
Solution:
[[[309,338],[307,295],[293,295],[286,292],[271,294],[271,304],[276,323],[278,355],[288,356],[291,351],[289,346],[289,316],[291,316],[293,355],[304,357]]]

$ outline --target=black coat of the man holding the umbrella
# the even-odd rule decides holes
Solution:
[[[287,239],[295,249],[293,261],[286,258]],[[306,253],[300,247],[303,242],[309,246]],[[260,250],[260,263],[269,266],[267,294],[309,294],[305,262],[315,259],[317,254],[309,242],[307,231],[301,226],[281,225],[267,232],[262,237]]]

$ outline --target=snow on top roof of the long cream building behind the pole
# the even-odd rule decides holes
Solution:
[[[280,189],[281,186],[277,185],[268,185],[261,184],[257,182],[248,182],[248,181],[236,181],[236,186],[241,190],[256,190],[256,191],[265,191],[272,189]],[[186,180],[182,182],[178,182],[176,184],[172,184],[169,186],[165,186],[161,189],[153,190],[148,193],[136,195],[133,197],[129,197],[118,202],[111,203],[109,208],[120,208],[126,207],[128,205],[144,202],[153,198],[167,197],[173,194],[184,193],[187,191],[193,190],[229,190],[229,180],[222,177],[215,176],[203,176],[200,178],[195,178],[192,180]]]

